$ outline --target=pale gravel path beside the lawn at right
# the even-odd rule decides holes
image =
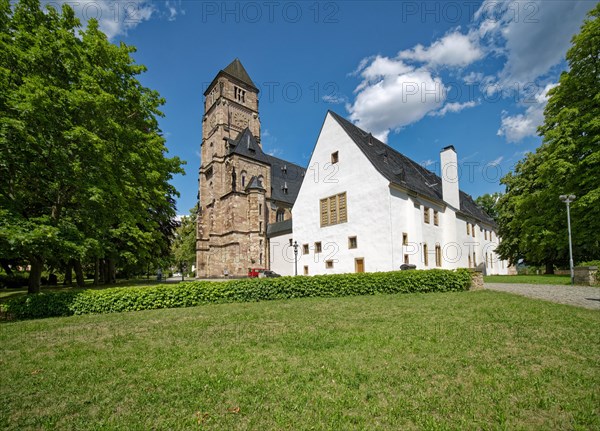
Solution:
[[[485,289],[600,310],[600,288],[549,284],[485,283]]]

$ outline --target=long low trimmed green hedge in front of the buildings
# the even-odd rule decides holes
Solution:
[[[5,312],[13,319],[36,319],[226,302],[463,291],[468,290],[470,283],[470,273],[465,269],[255,278],[228,282],[192,281],[150,287],[27,295],[8,300]]]

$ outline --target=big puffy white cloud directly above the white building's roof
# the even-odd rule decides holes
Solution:
[[[440,78],[399,60],[375,57],[361,76],[356,99],[346,108],[352,121],[384,142],[390,130],[420,120],[445,99]]]

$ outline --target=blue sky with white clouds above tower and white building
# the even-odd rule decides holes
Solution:
[[[50,2],[52,3],[52,2]],[[58,2],[54,2],[58,3]],[[439,171],[454,145],[460,186],[477,197],[540,144],[546,92],[595,1],[70,3],[138,51],[160,120],[178,213],[195,205],[202,93],[238,57],[261,90],[265,151],[306,166],[328,109]]]

